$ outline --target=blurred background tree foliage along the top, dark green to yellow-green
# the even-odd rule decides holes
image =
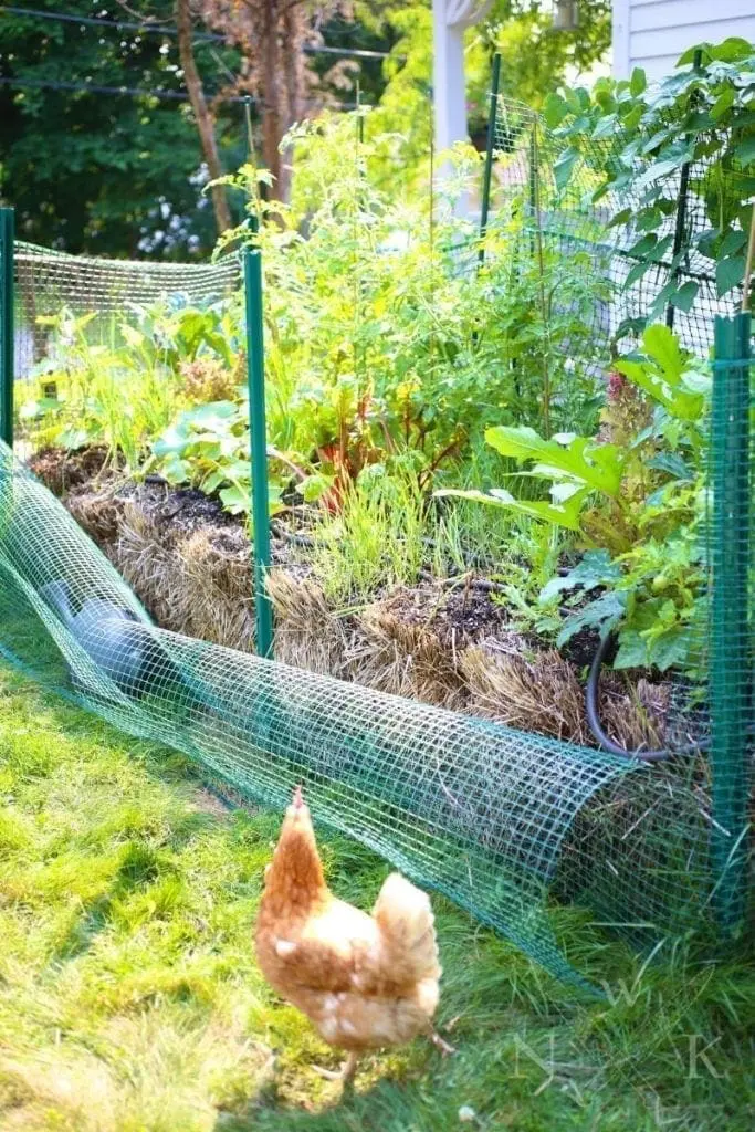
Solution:
[[[292,118],[328,101],[353,102],[359,79],[366,101],[380,103],[375,127],[404,136],[386,158],[411,181],[431,135],[430,0],[288,7],[242,0],[242,7],[244,34],[231,35],[228,6],[191,0],[191,46],[216,168],[232,171],[246,158],[242,92],[255,93],[258,153],[281,178],[276,147]],[[286,38],[294,7],[298,31]],[[213,247],[217,207],[201,191],[209,177],[206,129],[200,138],[174,8],[174,0],[69,0],[65,9],[58,0],[35,0],[34,15],[20,6],[0,14],[0,197],[16,206],[22,238],[74,252],[179,259]],[[255,29],[267,9],[278,8],[280,80],[288,87],[271,114],[271,79]],[[471,115],[484,112],[497,49],[504,89],[533,105],[570,66],[584,69],[600,58],[610,36],[609,2],[582,0],[580,12],[578,32],[555,33],[544,0],[495,0],[487,22],[469,33]],[[302,49],[323,43],[392,55],[381,63],[309,54],[302,68]],[[237,221],[239,205],[232,198],[229,205]]]

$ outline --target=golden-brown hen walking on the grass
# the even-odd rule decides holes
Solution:
[[[427,894],[393,873],[371,916],[334,897],[299,787],[267,866],[255,943],[271,986],[349,1052],[344,1081],[360,1053],[418,1034],[453,1053],[431,1022],[440,966]]]

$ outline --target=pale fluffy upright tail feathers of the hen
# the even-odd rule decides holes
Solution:
[[[380,889],[372,916],[397,981],[439,977],[435,918],[426,892],[392,873]]]

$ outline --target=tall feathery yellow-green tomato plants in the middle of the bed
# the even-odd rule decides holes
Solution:
[[[530,263],[511,201],[491,221],[479,269],[477,233],[452,207],[479,175],[479,155],[452,154],[448,199],[434,201],[431,223],[427,194],[396,201],[376,187],[384,139],[368,129],[358,144],[355,125],[342,117],[292,131],[293,201],[263,213],[274,444],[329,464],[342,483],[412,452],[429,482],[501,414],[541,423],[543,359],[554,427],[594,423],[592,320],[606,284],[589,257],[546,249]],[[252,211],[257,179],[249,165],[225,179]],[[223,246],[249,238],[239,228]]]

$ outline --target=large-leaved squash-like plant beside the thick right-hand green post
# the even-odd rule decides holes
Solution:
[[[544,440],[527,428],[487,431],[501,456],[530,465],[520,477],[549,483],[550,501],[496,489],[439,494],[573,532],[587,552],[543,585],[537,602],[544,615],[572,594],[557,643],[584,628],[620,626],[617,667],[664,669],[689,661],[702,609],[710,377],[666,326],[649,327],[643,346],[643,354],[616,362],[598,436]]]

